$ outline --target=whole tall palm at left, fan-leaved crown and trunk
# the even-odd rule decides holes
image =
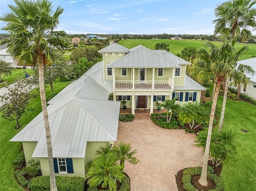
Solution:
[[[8,5],[11,12],[0,17],[0,20],[6,24],[2,27],[2,30],[6,30],[12,35],[8,43],[8,51],[15,59],[26,65],[35,65],[38,60],[39,88],[48,150],[50,190],[56,191],[43,68],[45,65],[53,63],[54,56],[50,45],[59,46],[60,48],[70,45],[65,32],[54,32],[59,24],[59,16],[64,9],[58,6],[54,12],[52,3],[47,0],[14,0],[14,3],[15,6]],[[34,44],[30,45],[30,43]]]

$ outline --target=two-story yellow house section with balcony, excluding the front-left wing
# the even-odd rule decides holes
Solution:
[[[183,105],[200,102],[200,84],[186,75],[188,61],[165,50],[150,50],[142,45],[128,49],[113,43],[99,51],[103,55],[104,79],[112,80],[112,100],[127,100],[127,107],[157,108],[155,102],[177,97]]]

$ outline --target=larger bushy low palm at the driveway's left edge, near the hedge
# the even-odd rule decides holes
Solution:
[[[116,181],[122,182],[124,179],[124,165],[116,163],[117,156],[112,152],[101,154],[100,157],[94,159],[92,165],[88,169],[86,179],[90,186],[108,188],[110,191],[116,191]]]

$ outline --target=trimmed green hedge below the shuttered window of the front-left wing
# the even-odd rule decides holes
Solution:
[[[56,176],[56,185],[57,185],[58,191],[83,191],[84,178]],[[30,189],[31,191],[49,191],[50,177],[49,176],[35,177],[30,184]]]

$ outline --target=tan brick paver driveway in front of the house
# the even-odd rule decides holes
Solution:
[[[137,149],[136,165],[125,164],[131,191],[178,191],[175,173],[191,166],[202,166],[202,148],[194,146],[194,134],[184,130],[156,127],[150,119],[119,122],[118,141]]]

